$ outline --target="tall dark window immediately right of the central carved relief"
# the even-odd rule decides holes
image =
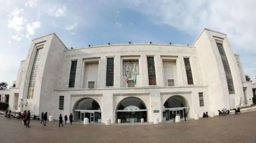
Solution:
[[[155,77],[155,60],[154,57],[148,56],[148,84],[149,85],[157,85],[157,79]]]

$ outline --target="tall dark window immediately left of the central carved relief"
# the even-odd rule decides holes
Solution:
[[[114,86],[114,58],[107,58],[106,87]]]

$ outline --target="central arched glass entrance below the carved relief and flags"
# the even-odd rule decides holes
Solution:
[[[147,122],[148,110],[142,100],[136,97],[128,97],[122,100],[116,108],[116,122],[118,119],[121,123],[125,122]]]

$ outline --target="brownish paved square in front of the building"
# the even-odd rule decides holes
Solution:
[[[1,143],[255,143],[256,111],[209,119],[158,125],[90,124],[58,127],[58,122],[32,120],[31,128],[18,119],[0,117]]]

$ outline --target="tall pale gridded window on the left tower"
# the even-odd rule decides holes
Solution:
[[[39,68],[42,51],[43,51],[43,48],[37,49],[37,52],[35,54],[35,59],[33,62],[31,75],[30,75],[30,79],[29,79],[29,88],[28,88],[28,92],[27,92],[27,99],[32,99],[34,96],[35,81],[37,78],[37,71]]]

